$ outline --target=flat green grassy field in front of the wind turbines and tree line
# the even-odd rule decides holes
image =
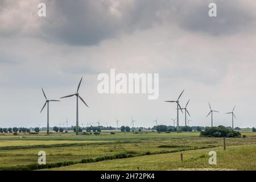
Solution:
[[[256,169],[256,134],[246,138],[203,138],[199,133],[121,133],[100,135],[0,135],[2,170],[180,170]],[[209,151],[217,164],[208,163]],[[38,152],[46,152],[46,165]],[[180,162],[180,153],[184,160]]]

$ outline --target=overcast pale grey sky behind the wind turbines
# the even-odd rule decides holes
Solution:
[[[37,14],[46,3],[46,17]],[[217,17],[208,5],[217,4]],[[171,125],[175,100],[188,106],[191,125],[256,126],[256,2],[251,0],[0,0],[0,127],[44,127],[47,97],[76,91],[80,123],[152,127]],[[97,76],[159,73],[159,98],[99,94]],[[50,104],[50,126],[75,125],[75,97]],[[184,125],[184,115],[180,117]]]

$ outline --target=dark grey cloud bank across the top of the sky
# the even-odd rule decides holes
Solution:
[[[23,1],[18,5],[17,1],[1,2],[0,15],[1,11],[11,12],[11,18],[8,22],[0,18],[0,36],[21,33],[48,42],[78,46],[94,46],[121,34],[149,29],[153,24],[178,26],[210,36],[234,34],[243,31],[244,27],[255,27],[255,13],[249,3],[238,0],[46,0],[46,18],[39,18],[35,8],[24,11]],[[208,16],[210,2],[217,4],[216,18]],[[31,6],[36,7],[38,2],[33,3]],[[23,13],[22,16],[15,14],[16,11]],[[30,17],[27,22],[26,17]]]

